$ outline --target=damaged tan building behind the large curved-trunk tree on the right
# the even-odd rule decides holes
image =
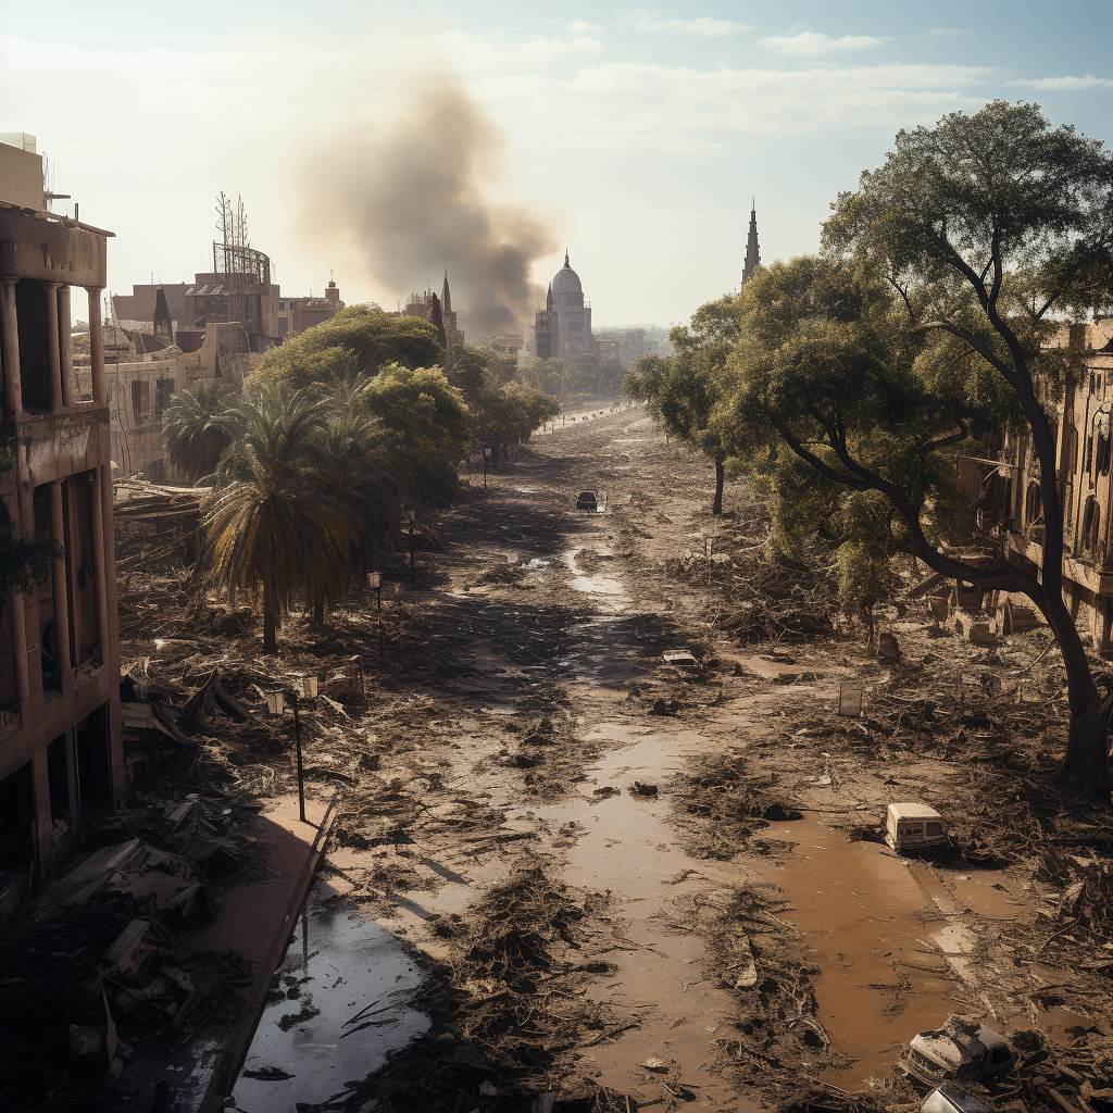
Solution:
[[[1063,503],[1063,590],[1082,632],[1113,652],[1113,523],[1110,414],[1113,412],[1113,318],[1064,324],[1048,342],[1067,359],[1062,398],[1050,414],[1056,432]],[[1045,522],[1040,463],[1026,431],[1011,431],[997,460],[958,459],[973,505],[975,538],[1001,545],[1033,575],[1043,567]]]

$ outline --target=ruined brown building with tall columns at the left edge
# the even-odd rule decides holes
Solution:
[[[46,536],[55,553],[43,583],[28,592],[13,590],[11,580],[3,585],[0,912],[7,912],[57,874],[82,815],[118,802],[124,767],[100,318],[111,233],[48,211],[33,140],[0,144],[0,536]],[[88,398],[73,366],[75,287],[89,307]]]

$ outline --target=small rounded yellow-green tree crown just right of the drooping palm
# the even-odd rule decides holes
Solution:
[[[368,382],[365,398],[403,486],[420,498],[452,491],[471,433],[467,407],[441,370],[384,367]]]

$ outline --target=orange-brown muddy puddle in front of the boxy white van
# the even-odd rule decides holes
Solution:
[[[856,1061],[828,1078],[854,1089],[890,1074],[915,1033],[955,1011],[953,972],[928,942],[946,922],[908,867],[873,843],[815,819],[774,824],[761,837],[795,844],[766,880],[791,902],[780,917],[805,934],[820,967],[817,1017]]]

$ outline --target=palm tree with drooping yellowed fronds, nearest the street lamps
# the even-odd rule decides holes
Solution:
[[[205,508],[210,582],[244,589],[263,609],[263,652],[302,590],[351,577],[357,531],[319,467],[326,404],[306,391],[249,386],[234,411],[238,436]]]

